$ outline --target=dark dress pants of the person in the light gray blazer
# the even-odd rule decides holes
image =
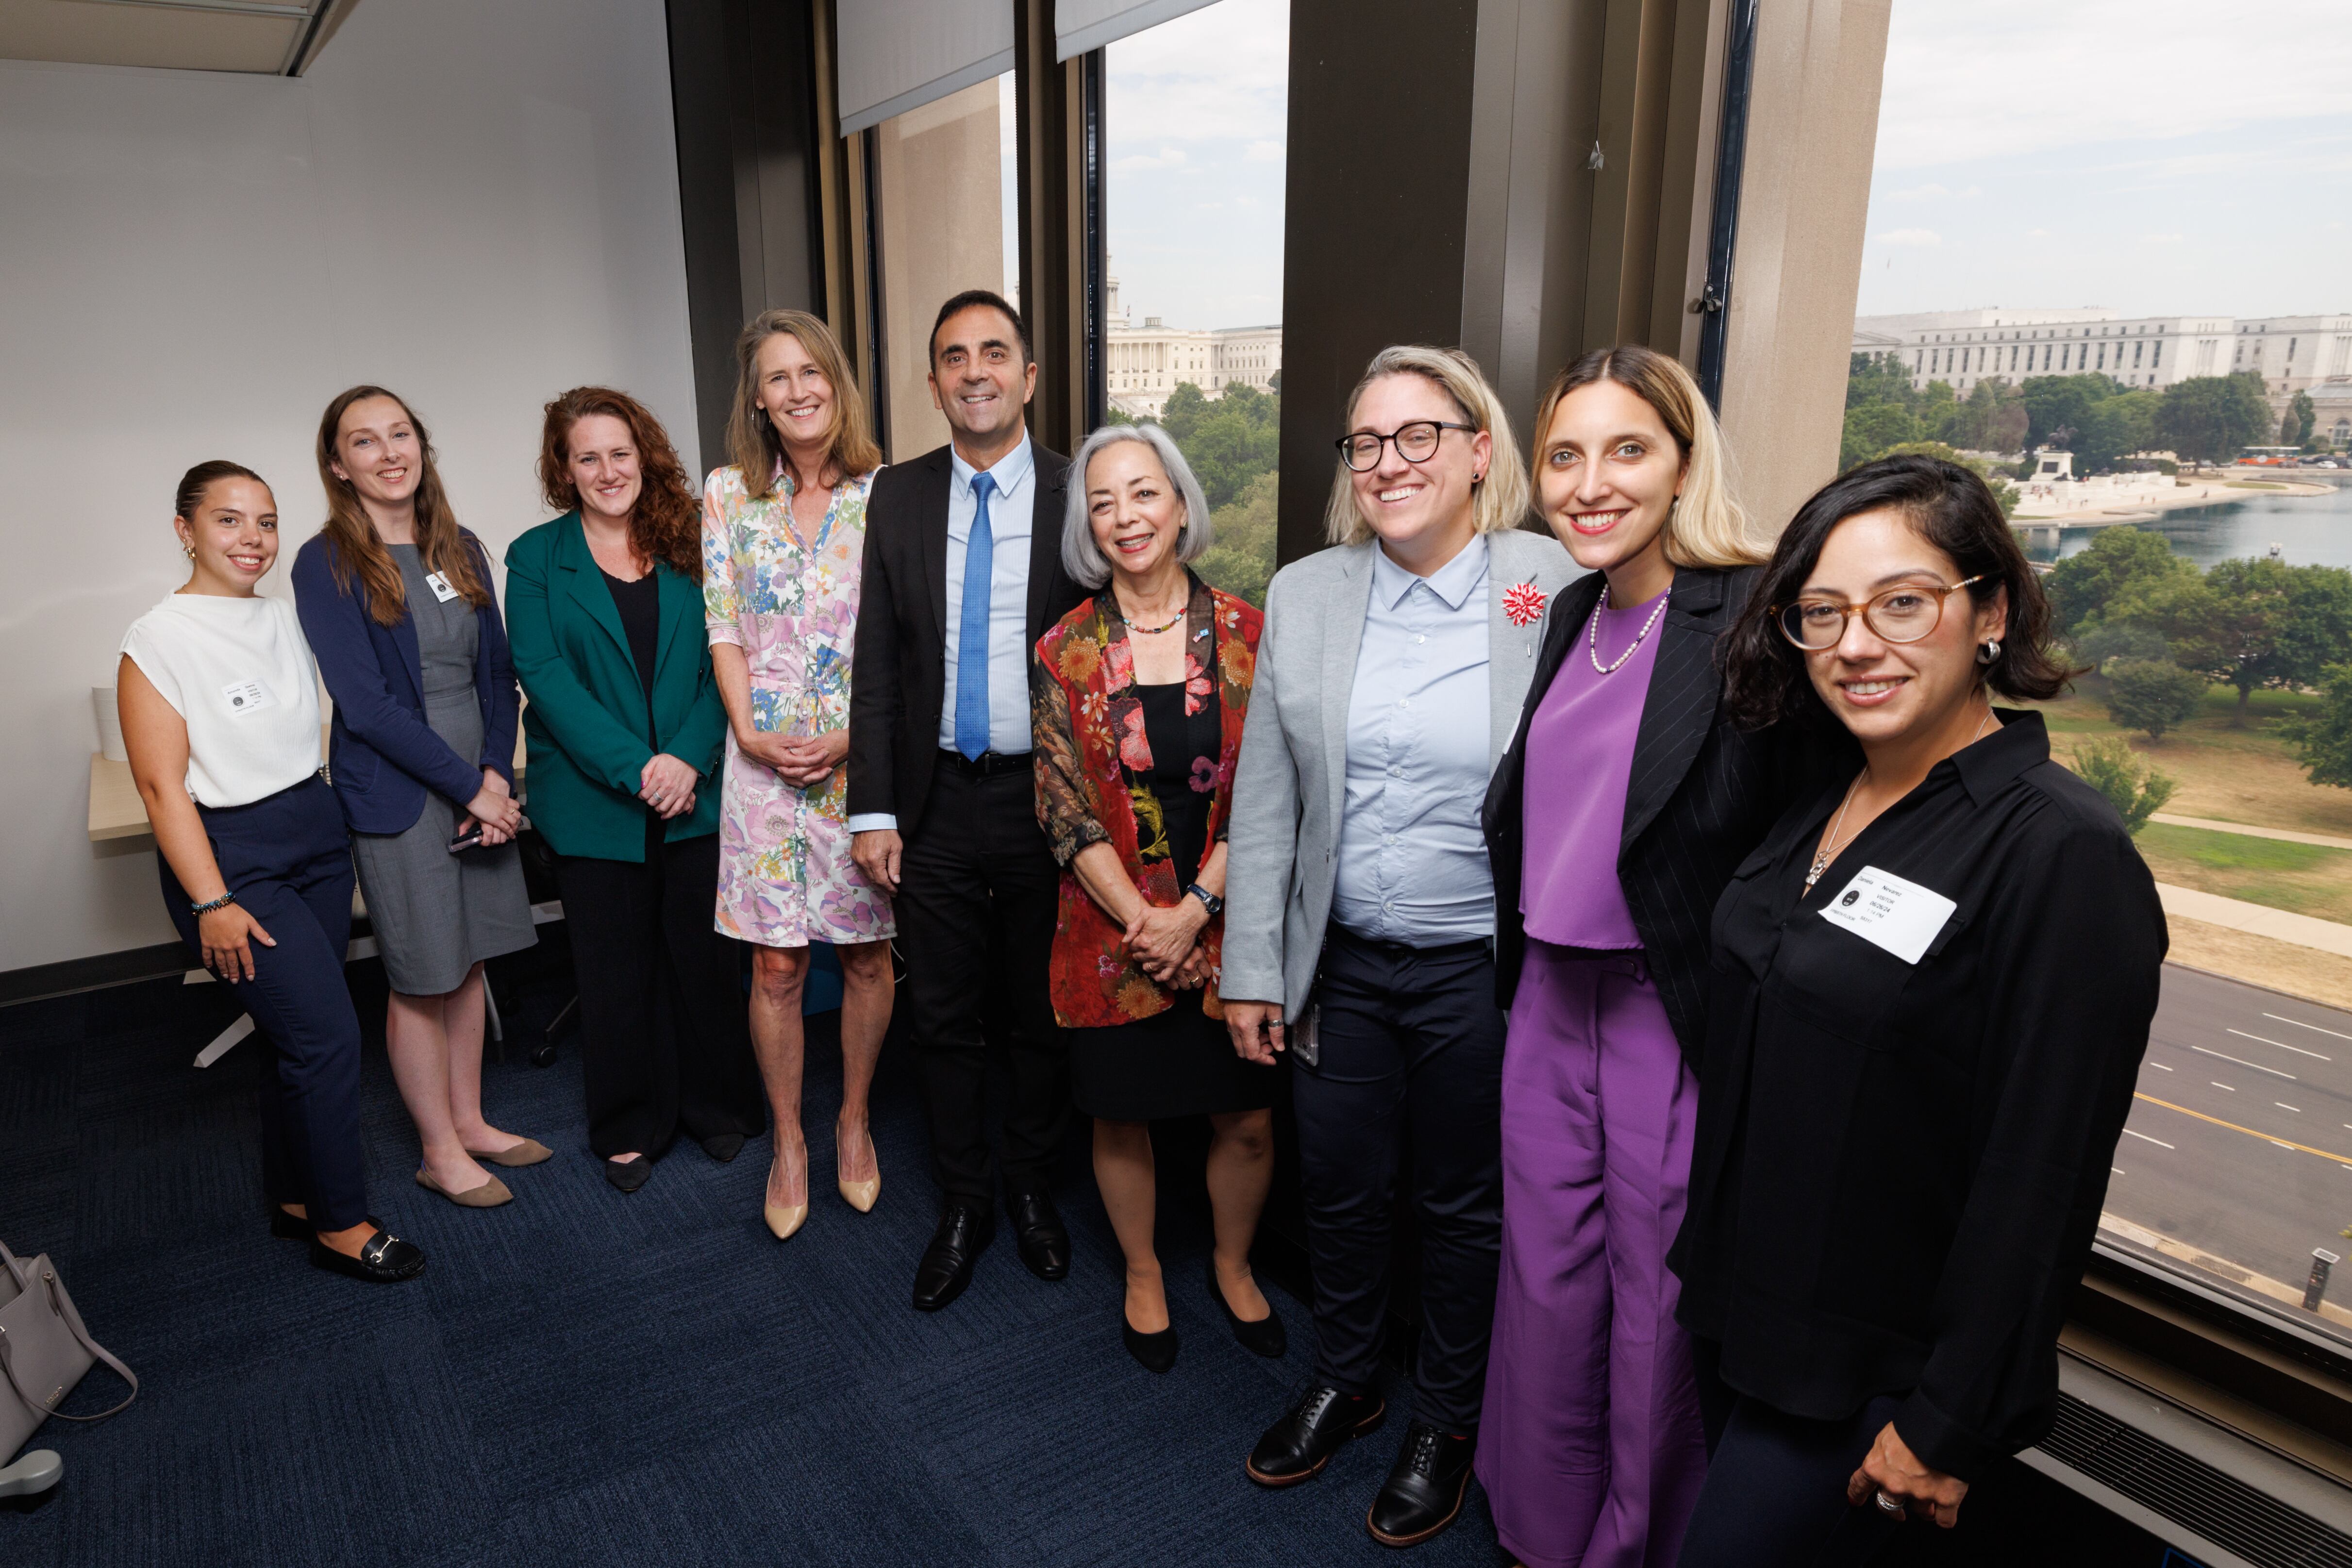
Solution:
[[[1486,1392],[1503,1260],[1494,950],[1416,950],[1331,926],[1312,1006],[1317,1060],[1294,1060],[1291,1095],[1315,1267],[1315,1378],[1350,1394],[1374,1389],[1390,1213],[1409,1145],[1421,1220],[1414,1418],[1468,1436]]]

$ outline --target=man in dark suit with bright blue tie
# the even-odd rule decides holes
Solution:
[[[1004,1206],[1021,1262],[1070,1272],[1047,1178],[1068,1117],[1047,994],[1058,872],[1030,773],[1030,649],[1087,597],[1061,567],[1070,458],[1030,442],[1028,324],[983,289],[931,327],[931,404],[950,442],[894,463],[866,501],[866,574],[849,691],[851,853],[898,905],[908,1023],[943,1190],[915,1269],[938,1312],[995,1237],[983,1124],[983,999],[1011,1001]]]

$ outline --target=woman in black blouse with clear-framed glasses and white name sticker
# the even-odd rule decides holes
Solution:
[[[2164,912],[2051,762],[2049,604],[1985,482],[1835,480],[1731,637],[1748,724],[1860,745],[1715,907],[1682,1324],[1722,1394],[1686,1568],[1858,1563],[2042,1439]],[[1828,741],[1823,741],[1828,743]]]

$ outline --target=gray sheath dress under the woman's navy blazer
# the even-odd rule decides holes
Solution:
[[[473,604],[447,604],[426,583],[416,545],[390,545],[416,623],[426,724],[468,762],[482,755],[482,696],[473,684],[480,646]],[[383,952],[383,978],[407,997],[440,997],[466,983],[482,959],[539,940],[522,858],[513,844],[449,853],[466,802],[426,790],[426,806],[405,832],[355,832],[360,896]]]

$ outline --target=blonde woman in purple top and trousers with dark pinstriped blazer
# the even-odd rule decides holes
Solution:
[[[1665,1248],[1705,1046],[1708,917],[1788,804],[1722,712],[1717,639],[1764,559],[1691,374],[1559,371],[1536,503],[1581,578],[1550,607],[1486,797],[1503,1051],[1503,1274],[1477,1474],[1526,1568],[1670,1563],[1708,1450]]]

